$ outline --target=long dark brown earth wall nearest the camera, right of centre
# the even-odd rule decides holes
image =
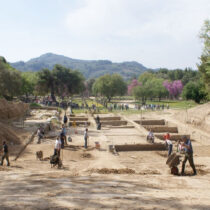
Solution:
[[[165,144],[125,144],[115,145],[117,152],[122,151],[164,151],[166,150]]]

